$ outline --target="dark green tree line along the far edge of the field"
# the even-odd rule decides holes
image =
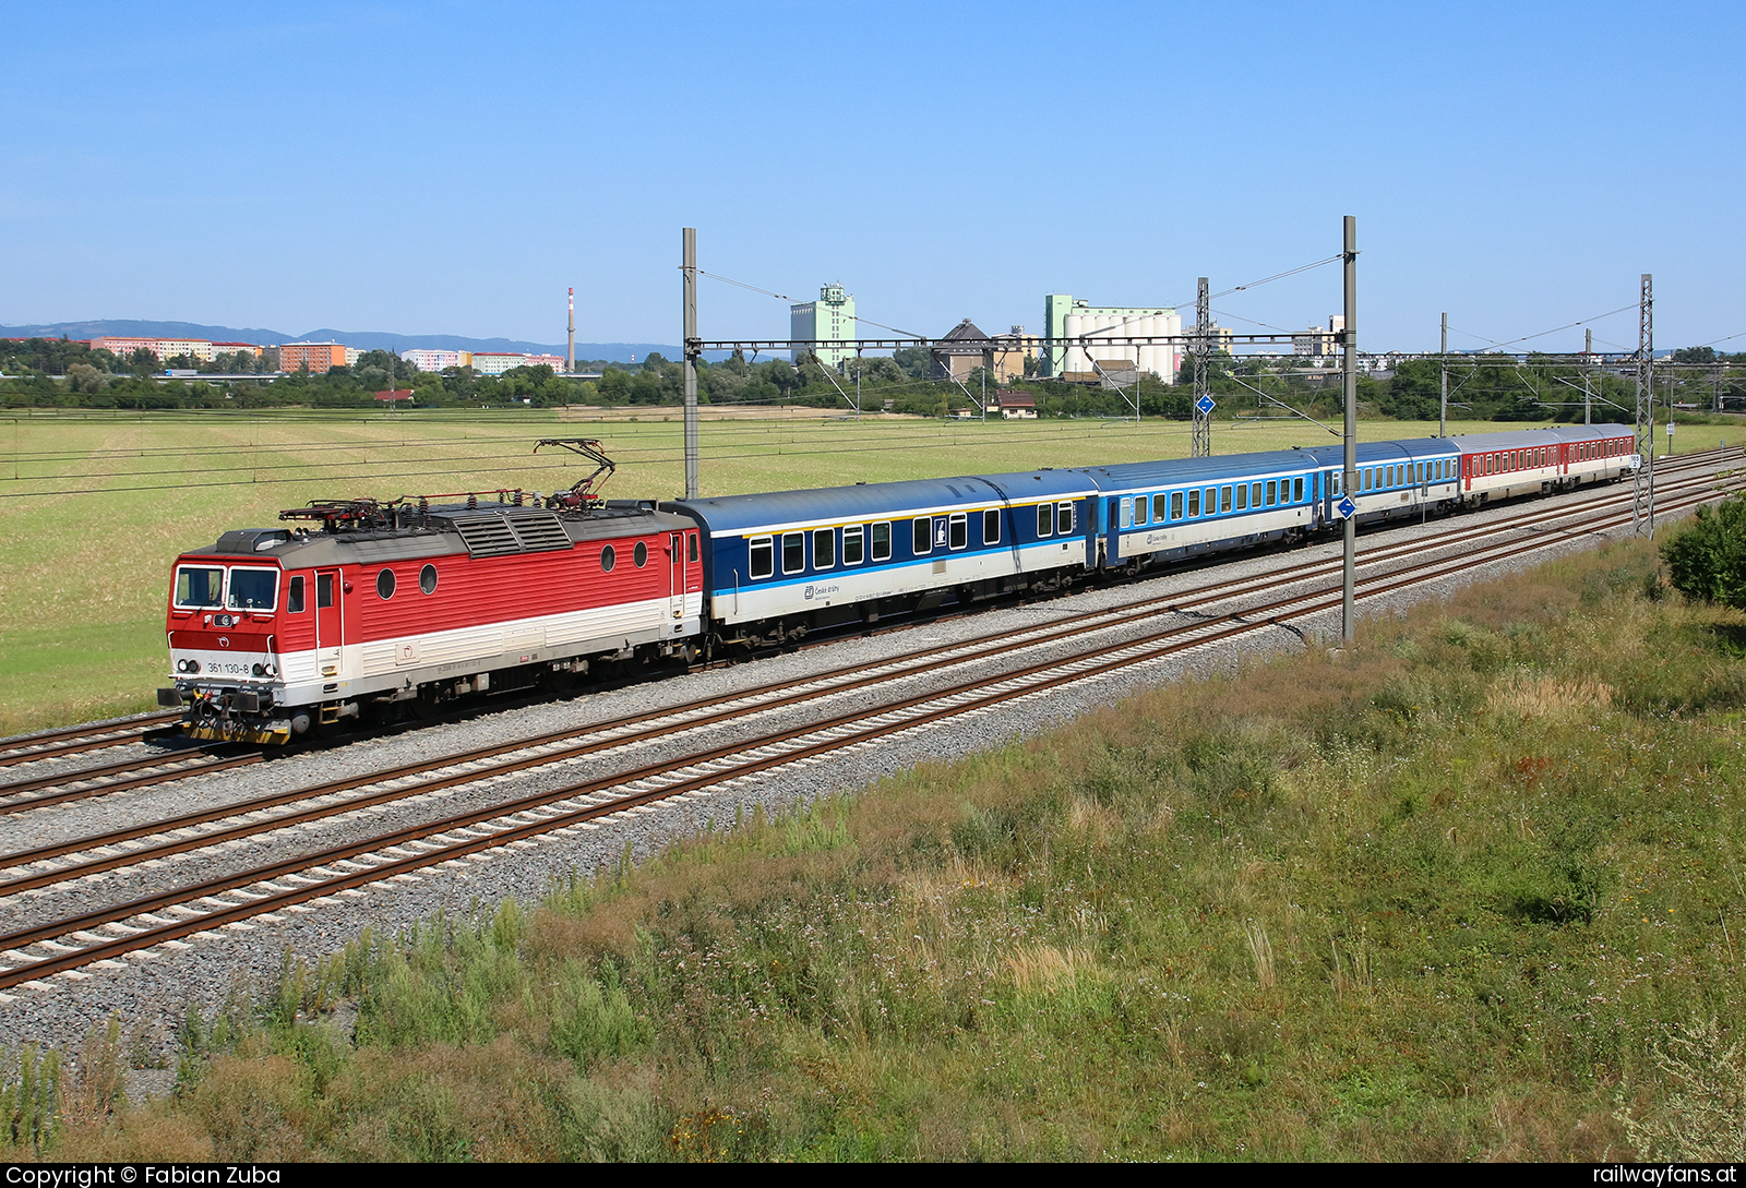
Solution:
[[[1694,410],[1716,403],[1734,408],[1746,405],[1746,354],[1716,354],[1711,347],[1687,347],[1673,361],[1690,365],[1664,368],[1657,380],[1657,399]],[[0,403],[63,408],[372,408],[374,393],[410,389],[412,403],[424,408],[553,408],[564,405],[670,406],[684,399],[684,368],[676,359],[651,352],[641,363],[581,363],[597,379],[557,375],[550,366],[520,366],[503,375],[480,375],[473,368],[419,372],[389,351],[365,351],[349,366],[325,373],[299,370],[260,380],[239,379],[206,382],[199,379],[164,380],[168,366],[185,365],[196,373],[265,373],[278,368],[278,351],[269,347],[260,358],[250,352],[225,354],[210,363],[178,358],[159,361],[148,351],[120,359],[108,351],[93,351],[84,342],[66,338],[28,338],[0,342]],[[1337,419],[1341,377],[1336,368],[1313,366],[1306,358],[1236,359],[1215,354],[1210,359],[1210,391],[1219,401],[1220,419],[1250,415],[1303,413]],[[1034,370],[1034,368],[1027,368]],[[815,408],[863,412],[899,412],[946,417],[976,412],[983,393],[1016,389],[1035,399],[1041,417],[1119,417],[1131,415],[1135,405],[1145,417],[1186,420],[1191,415],[1193,365],[1184,365],[1177,384],[1163,384],[1145,375],[1123,391],[1065,384],[1027,375],[997,382],[974,370],[964,384],[934,379],[932,358],[925,347],[908,347],[890,356],[849,359],[838,372],[814,356],[798,361],[782,358],[747,359],[735,352],[726,359],[698,363],[698,399],[705,405],[775,406],[810,405]],[[1358,379],[1360,413],[1399,420],[1433,420],[1439,408],[1444,365],[1437,359],[1411,359],[1393,372],[1367,373]],[[986,382],[985,382],[986,380]],[[1594,420],[1629,419],[1634,406],[1634,380],[1573,366],[1557,358],[1463,354],[1447,363],[1449,417],[1458,420],[1580,420],[1584,382],[1591,391]],[[1662,384],[1669,389],[1662,389]]]

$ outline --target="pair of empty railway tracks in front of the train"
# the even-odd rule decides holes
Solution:
[[[1694,506],[1713,497],[1713,490],[1709,488],[1713,488],[1709,478],[1673,485],[1662,494],[1662,506],[1669,511]],[[1620,502],[1624,502],[1622,508],[1619,506]],[[1564,530],[1540,532],[1528,541],[1517,539],[1484,544],[1467,550],[1454,558],[1409,560],[1399,569],[1365,576],[1360,581],[1358,597],[1360,600],[1374,600],[1413,584],[1465,572],[1474,565],[1533,553],[1564,543],[1575,534],[1617,527],[1620,522],[1629,523],[1629,499],[1603,497],[1587,501],[1577,509],[1564,509],[1561,515],[1554,515],[1554,511],[1535,509],[1529,516],[1536,525],[1568,518],[1578,518],[1580,522]],[[1521,529],[1521,520],[1523,516],[1512,516],[1509,523],[1493,522],[1491,525],[1475,527],[1470,532],[1474,539],[1479,534],[1500,536]],[[1440,537],[1433,548],[1442,551],[1447,544],[1458,543],[1451,537]],[[1372,550],[1365,560],[1371,567],[1376,567],[1379,560],[1388,560],[1379,555],[1390,551],[1395,556],[1425,553],[1426,543],[1404,541],[1388,546],[1388,550]],[[1306,567],[1292,577],[1292,584],[1327,576],[1329,570],[1337,570],[1337,560]],[[1227,602],[1245,588],[1248,593],[1254,593],[1255,590],[1278,584],[1276,574],[1219,583],[1203,588],[1206,598],[1201,600],[1201,605]],[[670,738],[676,729],[691,731],[726,719],[744,719],[747,713],[777,708],[779,703],[791,707],[808,700],[840,696],[845,691],[890,682],[915,675],[917,672],[939,672],[962,666],[973,658],[986,658],[992,651],[1009,652],[1018,637],[1025,637],[1027,642],[1023,647],[1030,649],[1044,640],[1060,642],[1079,635],[1107,632],[1110,626],[1140,621],[1147,614],[1156,616],[1161,602],[1180,607],[1193,593],[1184,591],[1172,595],[1168,600],[1145,600],[1144,604],[1121,607],[1100,616],[1086,616],[1086,619],[1098,621],[1044,625],[1041,628],[1006,633],[999,638],[922,649],[894,658],[890,665],[873,670],[856,666],[852,670],[843,668],[808,677],[793,689],[766,687],[740,694],[732,701],[709,700],[674,707],[653,720],[636,724],[620,720],[566,731],[562,738],[543,736],[541,740],[501,745],[485,752],[470,752],[466,755],[417,764],[416,769],[400,768],[386,773],[372,773],[349,782],[333,782],[318,789],[251,801],[243,806],[227,806],[204,816],[189,815],[176,822],[154,822],[148,827],[80,839],[79,843],[63,846],[40,848],[28,855],[9,855],[3,858],[9,869],[35,869],[33,872],[16,874],[0,883],[0,897],[17,895],[26,890],[42,893],[44,888],[86,881],[91,876],[100,876],[119,867],[161,862],[173,855],[222,846],[243,837],[288,830],[327,816],[356,813],[361,808],[405,801],[468,783],[499,780],[510,773],[574,764],[588,755],[620,748],[629,750],[653,736]],[[1016,700],[1041,696],[1069,684],[1131,668],[1133,665],[1159,661],[1187,649],[1206,647],[1259,630],[1285,626],[1294,619],[1322,614],[1337,605],[1337,586],[1323,584],[1310,591],[1276,597],[1262,605],[1208,614],[1194,623],[1154,628],[1137,638],[1110,640],[1072,656],[1056,656],[1020,665],[993,677],[974,673],[957,684],[899,696],[871,710],[854,707],[833,717],[779,726],[756,738],[740,738],[704,747],[679,759],[646,762],[533,795],[470,808],[464,813],[449,815],[435,822],[407,825],[384,834],[299,853],[248,871],[164,888],[122,904],[49,919],[0,935],[0,947],[5,949],[5,952],[0,952],[0,961],[5,961],[9,966],[0,972],[0,987],[44,986],[42,979],[54,973],[79,977],[82,975],[80,966],[105,966],[108,963],[113,968],[113,963],[129,952],[141,952],[152,947],[168,947],[173,951],[178,946],[185,947],[185,939],[189,937],[217,935],[213,932],[217,928],[248,926],[246,921],[251,918],[264,918],[267,921],[283,919],[276,912],[313,911],[309,907],[313,900],[330,900],[335,895],[360,895],[360,888],[370,883],[417,879],[421,877],[416,874],[417,871],[433,865],[489,860],[492,850],[531,846],[543,837],[595,829],[602,816],[644,809],[658,801],[707,795],[723,785],[754,778],[772,768],[822,759],[849,747],[861,747],[894,734],[922,729],[952,717],[986,712]],[[492,762],[492,759],[498,759],[498,762]],[[293,813],[272,811],[274,808],[299,801],[304,801],[307,806]],[[220,825],[223,820],[234,823]],[[141,841],[152,836],[162,837],[162,841],[155,844]],[[45,952],[26,952],[28,947]]]

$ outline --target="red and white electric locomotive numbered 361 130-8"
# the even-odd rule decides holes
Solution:
[[[314,529],[225,532],[183,553],[175,686],[159,703],[183,707],[196,738],[283,743],[602,661],[688,659],[704,609],[697,525],[595,499],[590,483],[531,502],[321,501],[281,513]]]

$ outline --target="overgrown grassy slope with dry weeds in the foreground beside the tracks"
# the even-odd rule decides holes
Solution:
[[[190,1021],[169,1101],[110,1113],[98,1045],[51,1146],[1739,1158],[1746,618],[1650,572],[1557,562],[367,937]]]

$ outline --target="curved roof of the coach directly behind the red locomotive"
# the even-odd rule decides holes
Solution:
[[[766,495],[677,499],[663,502],[662,509],[697,516],[712,536],[733,536],[801,523],[903,518],[955,508],[1077,499],[1091,494],[1096,494],[1091,481],[1077,471],[1020,471],[779,490]]]

